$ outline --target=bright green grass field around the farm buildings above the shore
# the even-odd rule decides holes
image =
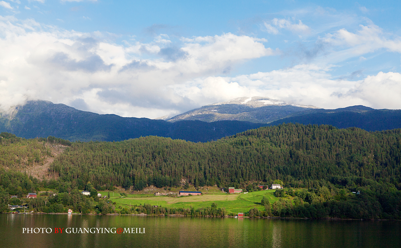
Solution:
[[[121,196],[119,193],[110,192],[110,199],[116,202],[117,206],[129,207],[139,204],[158,205],[169,208],[205,208],[210,207],[214,202],[217,208],[225,208],[228,213],[248,212],[249,209],[256,207],[263,210],[260,205],[263,196],[269,199],[270,203],[277,200],[273,196],[275,190],[261,190],[247,194],[224,194],[213,192],[214,194],[203,194],[202,196],[168,197],[153,196],[153,194],[128,194],[128,197]],[[209,193],[211,193],[209,191]],[[100,192],[107,196],[107,192]]]

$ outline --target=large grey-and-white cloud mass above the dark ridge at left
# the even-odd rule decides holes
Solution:
[[[0,22],[2,109],[43,99],[122,116],[178,114],[198,107],[199,101],[176,93],[172,85],[185,85],[244,60],[279,53],[265,47],[266,40],[231,33],[182,38],[178,44],[160,34],[148,43],[122,46],[99,39],[103,34],[98,32],[61,30],[12,16]],[[219,90],[224,85],[215,87]],[[231,87],[236,88],[235,84]],[[204,95],[211,94],[207,89]]]

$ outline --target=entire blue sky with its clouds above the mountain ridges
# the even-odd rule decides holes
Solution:
[[[401,109],[397,1],[0,0],[0,109],[123,117],[237,97]]]

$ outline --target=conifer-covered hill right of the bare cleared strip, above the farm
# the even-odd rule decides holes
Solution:
[[[138,189],[146,184],[172,185],[182,178],[201,186],[239,187],[249,181],[283,179],[294,187],[334,180],[350,185],[377,181],[399,189],[400,158],[400,129],[369,133],[286,124],[208,143],[161,137],[78,142],[57,157],[51,169],[66,181]]]

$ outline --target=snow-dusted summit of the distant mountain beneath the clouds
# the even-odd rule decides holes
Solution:
[[[249,105],[251,107],[263,107],[267,105],[275,105],[275,106],[286,106],[291,105],[294,107],[303,107],[310,109],[320,109],[319,107],[315,107],[313,105],[301,105],[296,103],[287,103],[283,100],[271,99],[269,97],[237,97],[235,99],[231,99],[229,101],[221,102],[221,103],[213,103],[211,105],[222,105],[222,104],[239,104],[239,105]]]

